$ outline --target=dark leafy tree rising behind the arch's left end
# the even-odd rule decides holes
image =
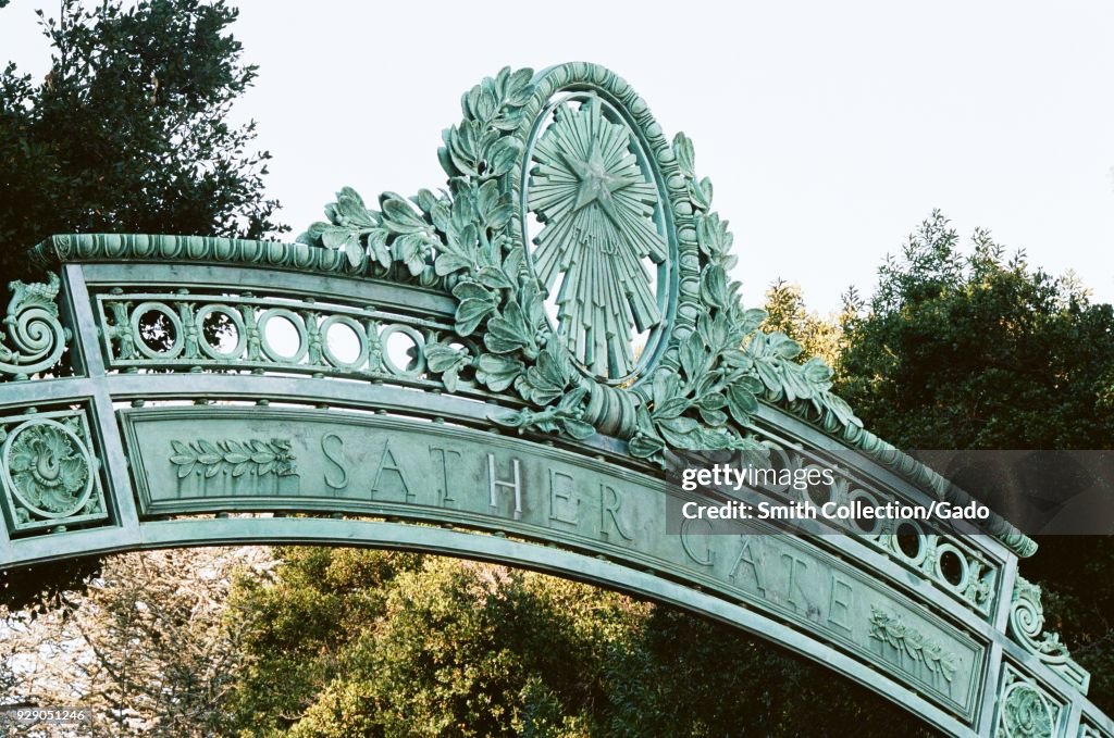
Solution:
[[[227,32],[235,9],[62,0],[58,19],[39,14],[49,73],[0,75],[0,274],[57,233],[285,230],[263,190],[271,155],[248,151],[255,122],[227,120],[256,76]]]

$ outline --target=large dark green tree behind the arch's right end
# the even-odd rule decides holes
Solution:
[[[899,447],[1114,447],[1114,308],[1074,277],[1006,257],[981,229],[965,254],[934,211],[879,269],[869,307],[850,307],[836,388]],[[1114,539],[1038,543],[1022,572],[1044,586],[1048,626],[1112,711]]]

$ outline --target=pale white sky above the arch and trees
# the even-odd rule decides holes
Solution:
[[[342,2],[243,0],[260,77],[236,110],[272,152],[294,234],[351,185],[373,201],[443,185],[440,134],[504,66],[602,63],[684,130],[760,305],[869,295],[940,208],[1114,302],[1114,3]],[[33,11],[0,10],[0,59],[40,78]]]

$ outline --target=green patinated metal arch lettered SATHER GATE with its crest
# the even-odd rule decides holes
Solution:
[[[736,624],[949,734],[1114,736],[1000,519],[911,548],[886,524],[668,534],[675,450],[853,449],[840,499],[956,492],[758,332],[692,144],[623,79],[505,69],[462,108],[448,189],[369,209],[345,188],[295,244],[31,249],[42,278],[13,283],[0,343],[0,567],[231,542],[466,555]]]

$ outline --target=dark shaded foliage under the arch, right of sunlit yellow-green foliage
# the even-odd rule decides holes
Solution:
[[[823,667],[671,608],[654,608],[625,657],[608,667],[612,703],[600,735],[936,735]]]

